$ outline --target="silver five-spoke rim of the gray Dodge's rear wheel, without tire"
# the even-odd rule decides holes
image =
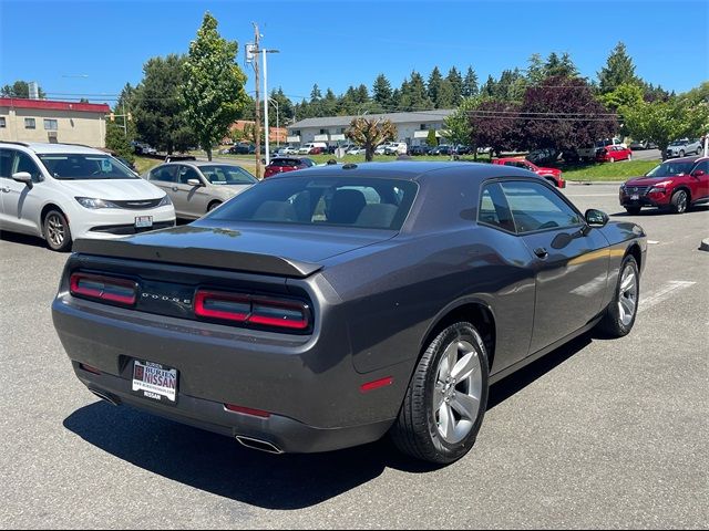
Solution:
[[[466,341],[452,342],[439,362],[433,391],[433,416],[445,442],[459,444],[473,429],[482,391],[477,351]]]

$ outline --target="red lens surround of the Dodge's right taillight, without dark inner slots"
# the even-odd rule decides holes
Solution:
[[[212,300],[214,302],[240,302],[249,304],[249,312],[227,312],[223,310],[214,310],[207,308],[206,302]],[[259,309],[284,309],[294,310],[300,314],[300,319],[289,320],[279,319],[271,315],[259,314]],[[240,293],[227,293],[217,291],[197,290],[195,294],[195,315],[198,317],[219,319],[224,321],[234,321],[238,323],[257,324],[261,326],[275,326],[280,329],[290,330],[307,330],[310,326],[310,311],[308,305],[297,301],[285,301],[274,299],[263,299],[258,296],[240,294]]]

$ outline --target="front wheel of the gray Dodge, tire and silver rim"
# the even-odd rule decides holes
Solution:
[[[639,299],[640,273],[635,257],[628,254],[620,264],[615,296],[606,308],[597,329],[608,337],[628,335],[638,314]]]

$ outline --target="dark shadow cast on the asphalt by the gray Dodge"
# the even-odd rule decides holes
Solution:
[[[487,408],[574,356],[590,337],[584,334],[491,386]],[[63,424],[89,444],[136,467],[265,509],[321,503],[379,477],[387,468],[408,473],[442,468],[399,454],[386,438],[328,454],[261,454],[222,435],[104,402],[75,410]]]

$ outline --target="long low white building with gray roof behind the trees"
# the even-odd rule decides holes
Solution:
[[[429,131],[435,131],[441,138],[444,128],[443,121],[455,111],[436,108],[435,111],[412,111],[408,113],[368,114],[366,117],[391,121],[397,126],[397,142],[405,142],[409,146],[427,143]],[[306,144],[308,142],[326,142],[337,145],[346,140],[345,132],[357,116],[330,116],[325,118],[306,118],[288,127],[289,144]]]

